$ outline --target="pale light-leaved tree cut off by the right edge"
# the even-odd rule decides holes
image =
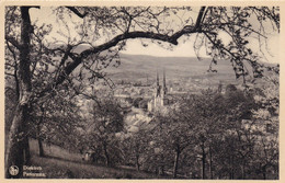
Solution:
[[[278,179],[278,129],[280,129],[280,83],[273,73],[266,77],[267,82],[255,93],[254,99],[260,105],[253,111],[250,130],[255,136],[255,151],[259,172],[263,179]],[[254,126],[254,127],[253,127]],[[271,170],[271,171],[270,171]],[[271,172],[271,173],[270,173]]]

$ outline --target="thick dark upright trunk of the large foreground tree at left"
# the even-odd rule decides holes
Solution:
[[[32,31],[31,20],[29,15],[29,7],[21,7],[21,49],[19,65],[19,87],[20,98],[15,108],[14,118],[9,131],[8,145],[5,151],[5,178],[21,178],[24,163],[24,150],[27,150],[25,139],[26,125],[29,119],[30,96],[32,91],[31,71],[30,71],[30,33]],[[25,153],[27,155],[27,153]],[[14,165],[14,167],[13,167]],[[16,171],[9,172],[10,168],[15,167]],[[12,169],[11,169],[12,170]]]

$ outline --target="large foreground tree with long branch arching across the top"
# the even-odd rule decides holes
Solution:
[[[192,12],[189,7],[58,7],[55,8],[55,13],[67,33],[61,31],[60,34],[67,42],[58,44],[57,41],[38,38],[38,34],[45,37],[53,26],[36,26],[35,22],[31,22],[30,9],[39,7],[5,9],[5,46],[12,47],[7,50],[7,58],[11,54],[14,57],[12,65],[12,59],[5,59],[5,69],[11,69],[19,91],[5,152],[7,178],[11,176],[8,171],[10,165],[22,168],[26,150],[26,142],[22,139],[26,139],[32,104],[48,96],[68,79],[88,79],[91,83],[99,78],[104,79],[102,69],[109,67],[112,60],[119,62],[118,52],[125,46],[126,39],[148,38],[159,45],[163,45],[162,42],[178,45],[181,36],[195,35],[194,49],[197,53],[205,46],[214,64],[218,59],[230,60],[236,76],[244,79],[249,75],[246,62],[252,67],[254,77],[261,77],[263,68],[258,61],[258,54],[249,48],[249,37],[256,35],[260,39],[265,39],[266,32],[262,27],[269,24],[273,31],[278,32],[280,28],[276,7],[202,7],[195,15],[189,14]],[[184,12],[189,15],[173,22],[173,16],[181,16]],[[73,27],[68,26],[67,22],[75,16],[83,22],[73,22]],[[252,19],[258,20],[261,28],[252,24]],[[70,34],[71,30],[78,36]],[[223,42],[220,32],[230,37],[229,43]],[[45,44],[37,42],[41,39]],[[82,46],[83,49],[80,50]],[[107,55],[104,54],[106,52]],[[38,64],[37,59],[33,59],[34,56],[43,62]],[[76,70],[79,71],[75,72]],[[47,80],[43,81],[43,78]],[[110,84],[107,79],[105,82]],[[37,88],[36,83],[42,84]]]

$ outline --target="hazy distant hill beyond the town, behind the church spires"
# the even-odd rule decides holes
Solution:
[[[121,54],[121,65],[109,67],[105,72],[112,80],[155,80],[157,70],[162,77],[162,70],[166,70],[167,80],[178,79],[201,79],[207,78],[219,82],[236,82],[235,72],[229,61],[218,61],[213,66],[217,72],[207,72],[210,59],[196,57],[155,57],[146,55],[126,55]]]

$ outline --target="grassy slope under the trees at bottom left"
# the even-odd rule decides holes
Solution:
[[[44,145],[47,157],[37,156],[36,140],[30,140],[32,165],[42,167],[48,179],[168,179],[127,168],[106,168],[81,160],[79,153],[69,152],[58,146]]]

